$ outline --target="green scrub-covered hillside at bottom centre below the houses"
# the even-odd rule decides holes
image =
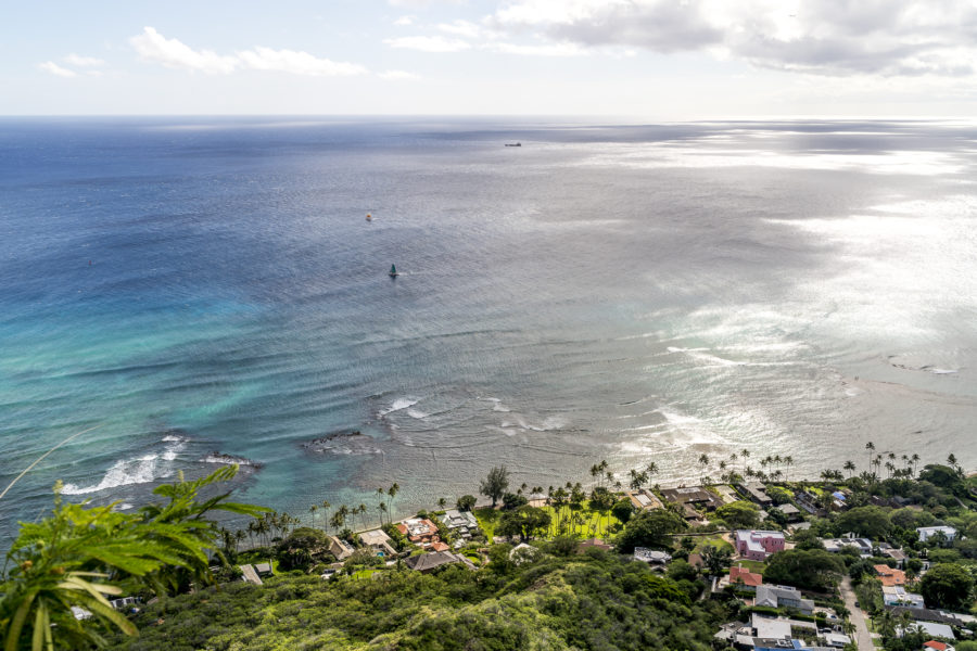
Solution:
[[[503,550],[505,551],[505,550]],[[458,566],[368,580],[234,584],[149,607],[140,651],[526,649],[707,651],[722,607],[613,554],[547,557],[504,575]],[[120,640],[126,642],[126,640]]]

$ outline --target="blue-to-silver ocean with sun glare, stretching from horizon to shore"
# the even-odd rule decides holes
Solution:
[[[0,489],[94,429],[0,532],[230,460],[357,525],[498,464],[973,469],[975,165],[951,120],[2,118]]]

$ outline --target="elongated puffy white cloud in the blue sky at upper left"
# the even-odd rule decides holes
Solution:
[[[142,34],[134,36],[129,42],[145,61],[160,63],[166,67],[211,75],[227,75],[238,69],[269,71],[314,77],[361,75],[367,72],[361,65],[320,59],[308,52],[296,50],[275,50],[256,46],[251,50],[236,52],[233,55],[217,54],[211,50],[193,50],[175,38],[163,37],[152,27],[145,27]]]

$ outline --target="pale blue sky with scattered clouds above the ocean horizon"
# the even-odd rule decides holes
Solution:
[[[0,15],[0,115],[977,115],[973,0],[52,0]]]

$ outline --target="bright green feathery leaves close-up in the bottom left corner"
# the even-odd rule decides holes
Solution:
[[[21,523],[7,554],[10,570],[0,583],[4,650],[102,646],[113,627],[135,635],[105,595],[119,595],[123,587],[165,593],[190,579],[212,580],[207,551],[217,549],[221,536],[204,516],[213,510],[246,515],[266,510],[227,502],[227,493],[199,499],[203,488],[236,472],[237,467],[226,467],[193,482],[164,484],[154,493],[169,501],[129,514],[115,511],[115,505],[64,503],[55,487],[51,515]],[[92,618],[83,625],[72,607]]]

